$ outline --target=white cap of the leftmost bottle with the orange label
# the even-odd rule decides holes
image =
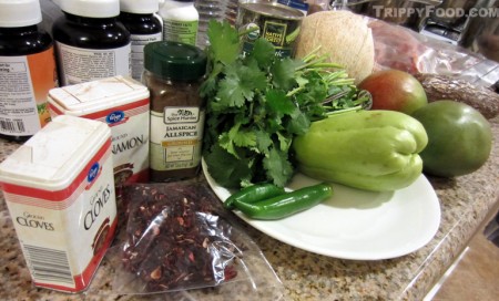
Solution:
[[[39,0],[0,0],[0,28],[22,28],[42,21]]]

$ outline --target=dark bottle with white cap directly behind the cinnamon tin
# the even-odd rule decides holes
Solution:
[[[131,76],[130,32],[118,20],[120,0],[60,0],[53,23],[61,85]]]

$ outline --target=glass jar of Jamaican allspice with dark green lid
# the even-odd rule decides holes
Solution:
[[[200,86],[205,53],[191,44],[160,41],[144,48],[143,83],[150,90],[150,179],[195,177],[201,168],[205,103]]]

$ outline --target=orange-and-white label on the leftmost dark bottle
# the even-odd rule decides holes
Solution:
[[[0,56],[0,133],[35,134],[50,122],[47,94],[55,86],[53,48],[30,55]]]

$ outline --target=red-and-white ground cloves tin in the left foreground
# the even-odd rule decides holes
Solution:
[[[86,289],[116,229],[109,126],[54,117],[0,164],[0,188],[34,284]]]

